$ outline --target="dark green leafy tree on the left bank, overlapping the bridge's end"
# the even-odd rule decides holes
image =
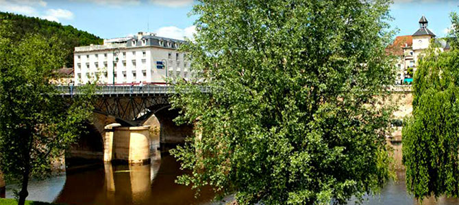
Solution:
[[[13,42],[3,38],[14,35],[9,26],[0,25],[0,168],[21,182],[18,204],[24,204],[29,178],[47,176],[79,134],[94,90],[64,100],[49,83],[66,55],[62,43],[34,34]]]

